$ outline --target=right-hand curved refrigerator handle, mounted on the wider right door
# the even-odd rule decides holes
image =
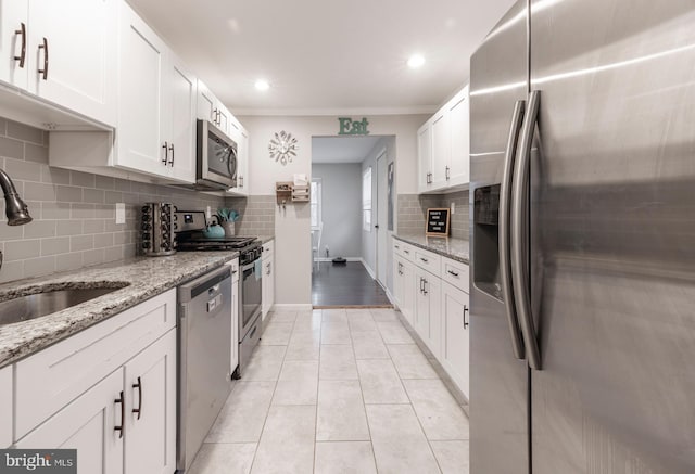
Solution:
[[[528,222],[523,218],[528,216],[528,205],[526,197],[529,192],[529,177],[531,164],[531,145],[533,143],[533,132],[538,121],[539,105],[541,102],[541,91],[531,91],[529,95],[529,106],[521,127],[521,138],[519,141],[519,156],[514,166],[514,183],[511,188],[511,283],[514,285],[514,297],[519,315],[521,334],[526,345],[527,358],[531,369],[541,370],[541,353],[539,349],[535,329],[533,328],[533,316],[531,313],[531,292],[529,287],[529,270],[527,262],[527,251],[529,239],[525,230],[528,230]]]

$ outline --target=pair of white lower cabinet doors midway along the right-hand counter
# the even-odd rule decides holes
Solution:
[[[438,277],[421,268],[416,268],[415,280],[415,331],[439,359],[442,346],[442,283]]]

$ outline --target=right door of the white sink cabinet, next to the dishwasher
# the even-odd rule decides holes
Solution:
[[[127,474],[176,470],[176,330],[125,366]]]

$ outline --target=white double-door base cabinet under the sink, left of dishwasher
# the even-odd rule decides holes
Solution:
[[[79,473],[173,473],[176,347],[169,290],[21,360],[15,446],[77,449]]]

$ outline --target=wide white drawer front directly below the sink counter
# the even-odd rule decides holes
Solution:
[[[175,326],[173,289],[18,361],[15,438]]]

